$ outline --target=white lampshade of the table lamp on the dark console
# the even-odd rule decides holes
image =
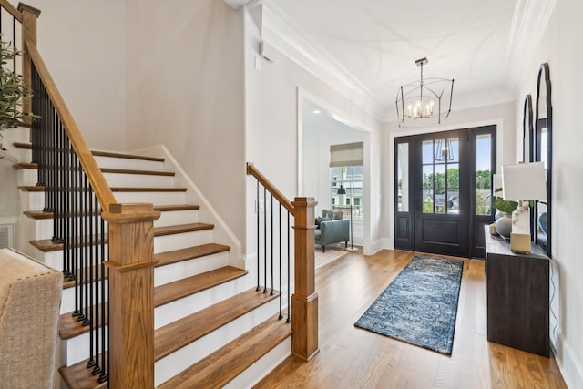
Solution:
[[[502,189],[504,200],[547,200],[544,162],[504,165]]]

